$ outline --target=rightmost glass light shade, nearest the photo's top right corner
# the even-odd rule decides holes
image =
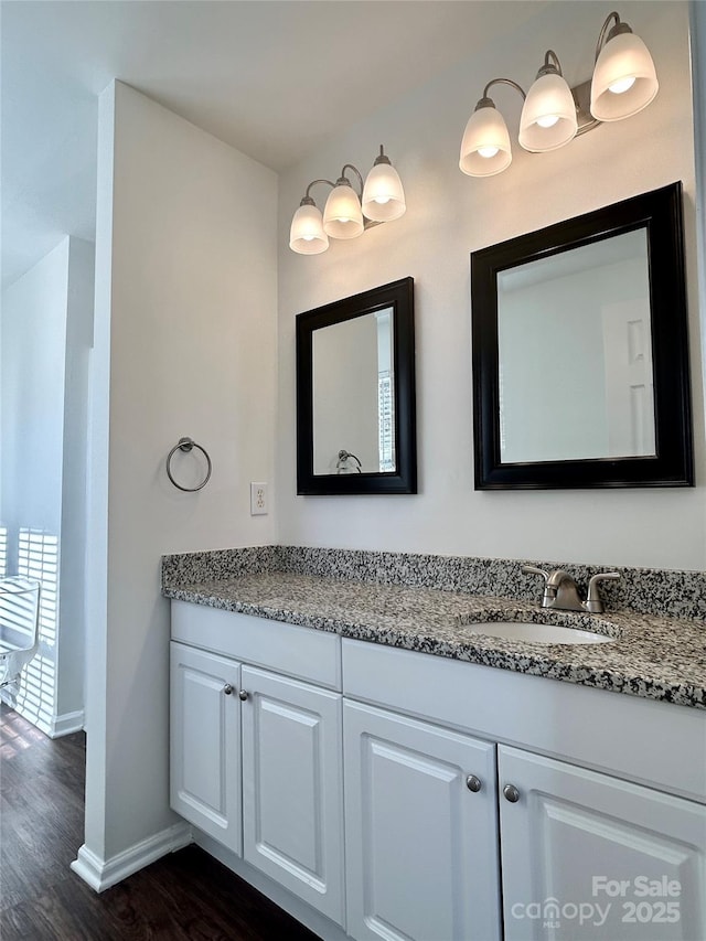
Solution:
[[[634,33],[620,33],[606,43],[596,62],[591,115],[599,121],[629,118],[646,108],[659,87],[650,50]]]

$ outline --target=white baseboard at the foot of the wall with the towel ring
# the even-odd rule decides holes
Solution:
[[[77,876],[87,883],[92,889],[103,892],[117,883],[127,879],[133,873],[149,866],[168,853],[174,853],[193,842],[191,827],[186,823],[176,823],[161,833],[156,833],[147,840],[141,840],[135,846],[124,849],[110,859],[101,859],[85,844],[78,851],[78,856],[71,864]]]

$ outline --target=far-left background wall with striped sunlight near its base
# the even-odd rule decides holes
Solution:
[[[93,245],[64,238],[2,297],[1,515],[8,574],[42,581],[36,657],[15,707],[83,726],[86,392]]]

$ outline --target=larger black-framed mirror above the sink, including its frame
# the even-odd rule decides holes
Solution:
[[[471,254],[475,489],[694,483],[682,184]]]

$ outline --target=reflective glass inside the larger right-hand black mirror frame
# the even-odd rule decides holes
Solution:
[[[498,272],[502,463],[655,453],[646,229]]]

